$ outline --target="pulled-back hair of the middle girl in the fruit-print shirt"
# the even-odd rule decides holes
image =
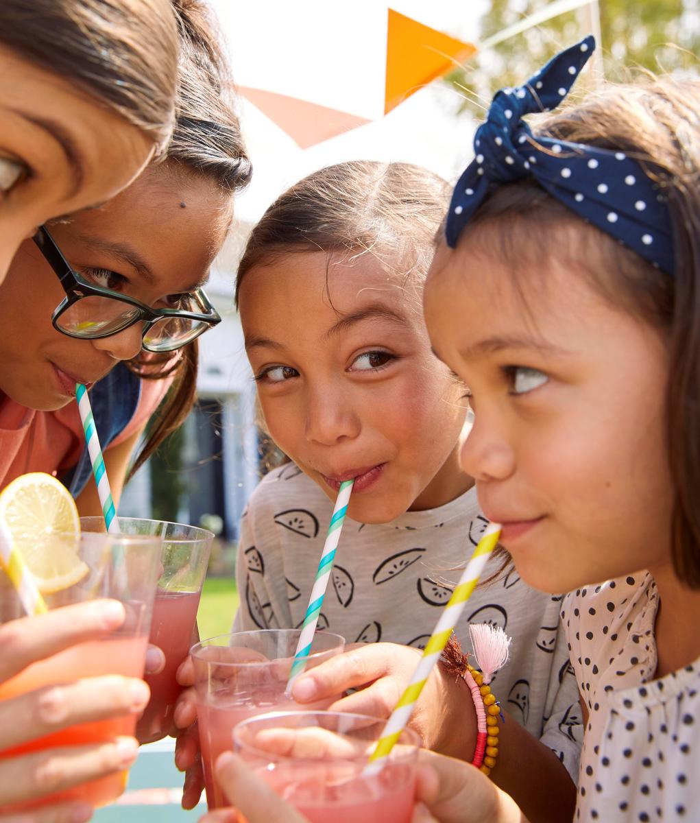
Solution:
[[[410,163],[355,160],[315,171],[277,198],[253,229],[236,303],[250,269],[280,253],[371,252],[422,282],[447,202],[447,183]]]

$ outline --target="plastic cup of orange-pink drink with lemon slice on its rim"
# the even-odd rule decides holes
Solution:
[[[8,700],[25,692],[56,683],[67,683],[81,677],[118,674],[142,677],[151,626],[151,610],[158,579],[160,537],[135,537],[119,534],[76,535],[79,555],[89,568],[79,583],[61,592],[46,595],[49,610],[77,602],[110,597],[123,603],[127,617],[123,625],[99,640],[76,644],[63,652],[32,663],[16,677],[0,683],[0,700]],[[0,621],[24,616],[19,598],[9,580],[0,572]],[[133,735],[136,716],[111,718],[95,723],[81,723],[61,732],[40,737],[0,751],[0,758],[16,757],[31,751],[43,751],[56,746],[81,746],[109,741],[120,735]],[[83,783],[81,786],[0,808],[0,814],[25,810],[63,800],[82,800],[93,806],[104,806],[123,793],[127,772]]]

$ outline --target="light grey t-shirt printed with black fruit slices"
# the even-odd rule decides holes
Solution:
[[[297,628],[304,621],[333,506],[294,465],[276,469],[243,513],[236,579],[241,606],[234,630]],[[391,523],[345,519],[319,628],[346,641],[379,640],[422,649],[486,526],[474,489],[438,509],[406,512]],[[492,557],[482,579],[498,570]],[[475,589],[457,624],[500,625],[512,638],[494,694],[509,714],[557,752],[577,779],[582,741],[577,683],[559,630],[561,597],[535,591],[512,565]]]

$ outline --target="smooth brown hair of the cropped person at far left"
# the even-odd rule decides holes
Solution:
[[[178,35],[169,0],[2,0],[0,44],[165,145]]]

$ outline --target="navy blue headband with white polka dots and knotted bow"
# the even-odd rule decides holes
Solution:
[[[552,58],[524,86],[501,89],[475,135],[475,160],[452,193],[447,244],[494,185],[533,177],[565,206],[664,272],[674,271],[668,206],[637,160],[624,151],[534,137],[522,117],[556,108],[596,48],[589,35]]]

